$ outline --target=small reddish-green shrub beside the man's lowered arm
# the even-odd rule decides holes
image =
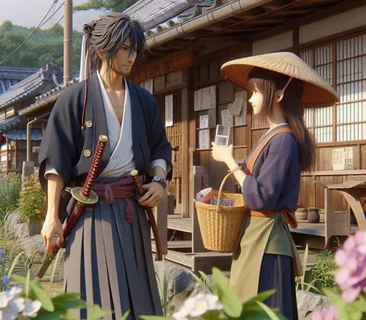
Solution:
[[[19,213],[24,221],[29,220],[30,223],[34,223],[43,219],[41,211],[45,196],[37,176],[29,176],[24,180],[19,206]]]

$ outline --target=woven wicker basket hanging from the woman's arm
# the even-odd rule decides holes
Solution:
[[[224,177],[219,191],[215,191],[218,194],[217,205],[194,200],[204,248],[210,251],[232,252],[242,228],[245,208],[243,195],[222,191],[231,174]],[[221,206],[222,199],[234,199],[234,206]]]

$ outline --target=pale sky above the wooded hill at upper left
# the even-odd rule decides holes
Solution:
[[[0,24],[6,20],[10,20],[12,24],[18,26],[37,26],[53,1],[54,0],[0,0]],[[62,4],[62,1],[63,0],[58,0],[55,8]],[[85,2],[86,0],[73,0],[74,5],[83,4]],[[51,12],[49,13],[49,16],[51,15]],[[105,11],[102,10],[74,12],[72,21],[73,29],[81,31],[84,23],[97,19],[104,14],[104,12]],[[63,8],[59,9],[59,11],[42,26],[42,29],[47,29],[56,24],[62,14],[64,14]],[[60,24],[63,25],[63,20]]]

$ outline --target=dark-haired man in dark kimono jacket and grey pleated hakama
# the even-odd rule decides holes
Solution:
[[[126,78],[146,47],[143,29],[129,16],[108,14],[85,25],[84,32],[86,81],[59,96],[39,151],[39,177],[48,196],[41,233],[48,249],[54,235],[63,240],[62,191],[82,184],[98,136],[107,135],[94,185],[99,202],[86,207],[66,241],[65,291],[114,310],[106,319],[119,319],[128,310],[130,319],[160,315],[142,206],[157,206],[164,196],[172,175],[171,146],[157,101]],[[144,185],[147,194],[139,204],[121,191],[133,188],[127,178],[132,169],[154,178]],[[86,319],[86,311],[79,316]]]

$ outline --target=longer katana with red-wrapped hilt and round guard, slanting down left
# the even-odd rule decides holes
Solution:
[[[104,153],[105,146],[107,145],[108,137],[103,134],[99,136],[97,149],[94,153],[93,159],[91,160],[90,168],[88,175],[86,176],[86,180],[84,182],[84,186],[76,186],[71,189],[71,196],[76,199],[76,204],[74,206],[74,210],[66,221],[66,225],[64,226],[63,234],[64,234],[64,242],[59,243],[56,242],[52,246],[51,252],[46,254],[46,257],[41,265],[41,269],[37,274],[39,279],[42,279],[44,274],[46,273],[49,265],[54,260],[54,257],[59,252],[59,249],[64,248],[66,246],[65,241],[67,236],[69,236],[71,230],[74,228],[76,222],[80,218],[81,214],[84,211],[84,207],[86,205],[96,204],[99,200],[97,194],[91,190],[91,187],[94,184],[95,179],[97,178],[98,170],[100,163],[102,161],[102,156]]]

